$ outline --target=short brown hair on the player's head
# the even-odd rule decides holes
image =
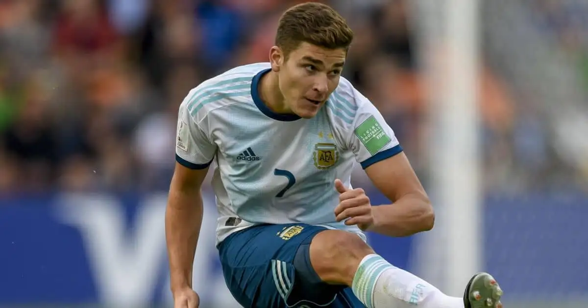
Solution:
[[[317,2],[292,6],[280,17],[276,46],[286,57],[300,43],[306,42],[327,49],[349,49],[353,31],[334,9]]]

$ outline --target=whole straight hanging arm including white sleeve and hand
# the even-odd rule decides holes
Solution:
[[[192,89],[179,107],[176,167],[165,213],[174,307],[185,308],[198,307],[198,296],[192,290],[192,265],[202,225],[201,188],[218,150],[208,133],[211,129],[209,121],[203,119],[206,114],[194,110],[199,104],[199,101],[192,100],[196,89]]]

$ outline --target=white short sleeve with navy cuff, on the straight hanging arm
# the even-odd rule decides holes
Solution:
[[[186,104],[180,105],[176,133],[176,161],[190,169],[205,169],[216,154],[216,144],[190,115]]]

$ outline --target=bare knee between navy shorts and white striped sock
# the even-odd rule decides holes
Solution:
[[[361,260],[374,253],[358,235],[340,230],[318,233],[310,243],[310,263],[324,282],[351,286]]]

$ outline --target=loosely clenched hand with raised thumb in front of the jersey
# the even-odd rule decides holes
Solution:
[[[347,189],[341,180],[335,180],[339,192],[339,205],[335,208],[337,221],[345,221],[348,226],[358,225],[365,231],[373,225],[372,204],[361,188]]]

